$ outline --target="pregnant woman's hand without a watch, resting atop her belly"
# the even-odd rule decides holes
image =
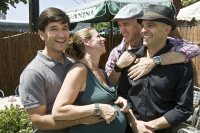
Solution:
[[[120,110],[123,112],[128,112],[128,110],[130,109],[127,100],[124,99],[123,97],[118,97],[117,100],[115,101],[115,104],[118,104],[121,107]]]

